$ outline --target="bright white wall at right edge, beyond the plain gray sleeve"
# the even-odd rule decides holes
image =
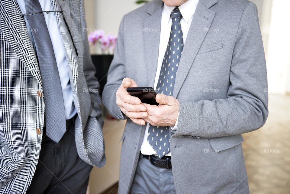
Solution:
[[[290,92],[290,1],[272,3],[266,55],[269,93]]]

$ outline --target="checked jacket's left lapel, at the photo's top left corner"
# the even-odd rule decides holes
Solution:
[[[11,48],[42,87],[37,58],[15,0],[0,1],[0,30],[7,38]]]

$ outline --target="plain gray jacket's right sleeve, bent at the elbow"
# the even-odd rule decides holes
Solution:
[[[268,116],[266,61],[256,5],[245,7],[234,46],[226,99],[179,101],[179,121],[173,136],[205,138],[256,130]]]

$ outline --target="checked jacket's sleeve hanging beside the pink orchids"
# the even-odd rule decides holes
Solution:
[[[84,30],[86,26],[85,22],[85,10],[84,10],[84,1],[81,1],[80,4],[80,20],[81,20],[81,32],[82,32],[82,42],[84,45],[84,56],[83,56],[83,72],[85,76],[85,81],[89,88],[89,93],[91,97],[91,110],[89,115],[96,117],[96,119],[101,123],[101,97],[99,95],[99,82],[95,77],[95,66],[92,63],[92,58],[89,51],[89,41],[87,31]]]

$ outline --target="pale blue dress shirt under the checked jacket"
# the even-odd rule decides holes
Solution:
[[[26,14],[24,0],[17,0],[17,2],[18,2],[18,6],[22,14]],[[50,0],[39,0],[39,3],[43,11],[53,11],[53,6]],[[57,24],[55,13],[50,12],[49,14],[44,13],[43,15],[44,15],[45,22],[46,22],[48,32],[50,35],[50,39],[52,42],[58,72],[60,74],[60,84],[61,84],[61,89],[63,91],[63,102],[64,102],[64,108],[65,108],[65,113],[66,113],[66,119],[70,119],[76,114],[76,107],[72,99],[72,87],[69,80],[69,68],[66,63],[66,54],[63,48],[63,40],[60,35],[60,30]],[[29,16],[24,16],[24,20],[25,20],[27,29],[30,29],[30,26],[26,17],[29,17]],[[28,30],[28,35],[31,39],[31,42],[34,45],[34,40],[31,34],[31,31],[33,30],[36,30],[36,29]]]

